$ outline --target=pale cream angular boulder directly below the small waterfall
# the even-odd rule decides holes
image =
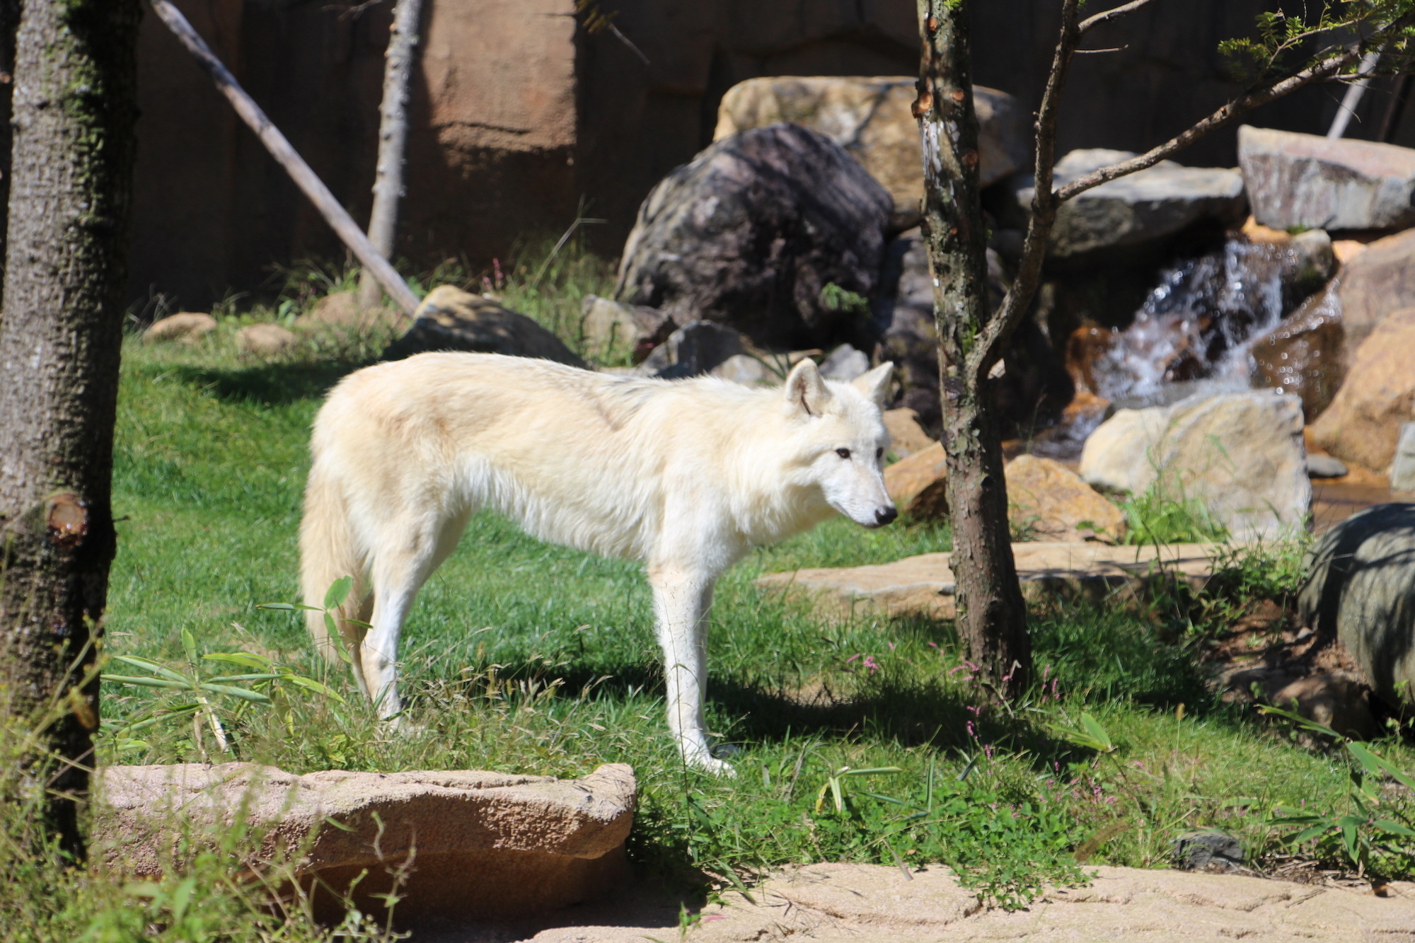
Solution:
[[[1080,471],[1097,487],[1200,501],[1237,539],[1290,534],[1312,510],[1302,404],[1269,391],[1119,409],[1087,439]]]

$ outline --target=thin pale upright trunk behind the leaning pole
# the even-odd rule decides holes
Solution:
[[[368,218],[368,241],[389,262],[398,242],[398,200],[403,195],[403,154],[408,150],[408,84],[417,47],[417,23],[423,0],[398,0],[393,28],[388,34],[383,64],[383,103],[378,116],[378,168],[374,176],[374,211]],[[382,290],[371,272],[358,283],[359,307],[375,307]]]

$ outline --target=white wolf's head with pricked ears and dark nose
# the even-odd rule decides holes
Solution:
[[[880,364],[849,384],[826,382],[804,360],[787,377],[784,396],[797,439],[795,463],[826,504],[856,524],[882,527],[899,513],[884,490],[889,432],[880,409],[894,364]]]

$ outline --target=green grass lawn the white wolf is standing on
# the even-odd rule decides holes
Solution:
[[[562,297],[542,316],[570,307]],[[345,338],[265,364],[235,355],[232,330],[224,323],[194,347],[125,348],[108,651],[185,665],[187,631],[198,664],[208,653],[258,653],[330,684],[347,704],[294,688],[269,707],[218,701],[232,736],[222,753],[190,716],[132,726],[180,698],[109,682],[103,762],[559,776],[628,762],[641,784],[631,852],[652,872],[750,879],[790,862],[945,862],[1007,905],[1044,881],[1081,879],[1077,848],[1090,864],[1162,867],[1177,833],[1218,827],[1261,861],[1278,837],[1262,824],[1274,806],[1348,803],[1343,755],[1302,749],[1282,728],[1217,702],[1193,654],[1193,640],[1244,595],[1289,588],[1290,554],[1235,561],[1240,578],[1225,592],[1238,596],[1223,606],[1034,613],[1043,681],[1009,705],[972,678],[948,623],[828,624],[753,586],[764,572],[948,549],[947,530],[925,525],[865,531],[835,520],[756,551],[720,581],[709,721],[740,753],[739,776],[719,780],[682,769],[668,738],[641,566],[548,547],[477,515],[405,631],[403,685],[422,731],[389,733],[342,665],[314,656],[294,613],[258,609],[296,600],[308,423],[323,392],[369,351]],[[1114,750],[1068,738],[1082,715]],[[1377,748],[1415,766],[1399,742]],[[1105,840],[1088,841],[1097,835]],[[242,896],[249,889],[222,889],[224,861],[208,855],[173,875],[160,899],[81,881],[62,926],[99,927],[95,940],[142,939],[149,926],[166,927],[161,939],[269,939],[273,918],[252,916],[265,912]],[[205,895],[198,910],[218,927],[207,936],[171,929],[183,925],[171,895],[192,875]],[[282,939],[318,936],[306,918],[291,919]]]

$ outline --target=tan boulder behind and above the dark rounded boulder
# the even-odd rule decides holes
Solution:
[[[749,127],[791,122],[821,132],[859,160],[893,200],[891,225],[918,225],[924,161],[911,106],[913,76],[795,76],[747,79],[727,89],[717,106],[713,140]],[[1027,160],[1026,115],[1012,95],[974,86],[978,112],[978,173],[988,187]]]

